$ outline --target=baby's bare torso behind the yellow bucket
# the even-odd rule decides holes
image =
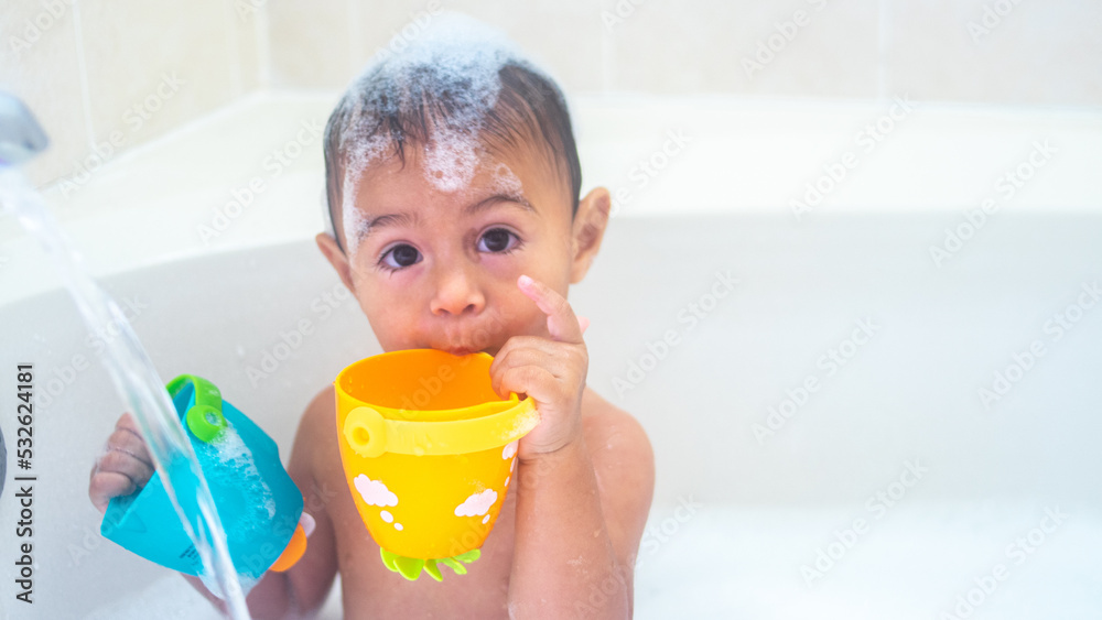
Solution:
[[[335,420],[333,426],[332,439],[316,453],[314,479],[321,487],[317,497],[325,498],[325,510],[333,521],[344,617],[507,618],[516,481],[510,483],[494,530],[482,546],[482,556],[466,566],[466,575],[442,566],[442,583],[424,573],[410,581],[382,564],[379,546],[353,502],[336,444]]]

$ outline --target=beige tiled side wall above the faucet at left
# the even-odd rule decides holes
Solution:
[[[247,2],[4,0],[0,89],[52,141],[28,166],[32,180],[79,183],[100,160],[258,88],[266,29],[237,9]]]

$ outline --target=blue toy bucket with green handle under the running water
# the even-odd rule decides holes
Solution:
[[[276,442],[222,400],[218,388],[205,379],[181,374],[166,388],[214,496],[238,574],[259,579],[269,569],[290,568],[306,550],[306,535],[299,524],[302,493],[283,469]],[[186,468],[187,464],[166,467]],[[173,480],[177,479],[175,474]],[[194,493],[195,487],[175,491],[177,496]],[[100,533],[173,570],[203,573],[199,555],[160,475],[150,478],[144,488],[114,498]]]

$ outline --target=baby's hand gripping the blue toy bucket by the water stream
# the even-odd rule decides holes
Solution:
[[[91,468],[88,483],[88,497],[99,512],[107,512],[111,498],[143,488],[154,471],[145,440],[129,413],[115,424],[104,450]]]

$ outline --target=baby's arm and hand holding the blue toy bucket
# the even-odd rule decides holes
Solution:
[[[306,552],[285,573],[268,572],[249,591],[246,602],[249,612],[258,620],[262,618],[309,617],[325,601],[336,575],[336,545],[333,523],[326,511],[326,502],[317,498],[318,487],[313,483],[313,442],[316,440],[317,418],[332,410],[332,399],[326,402],[325,393],[314,399],[306,409],[294,446],[288,474],[303,492],[305,511],[314,518],[315,527],[310,534]],[[326,406],[327,405],[327,406]],[[144,440],[138,434],[137,425],[129,414],[116,424],[115,432],[107,442],[107,452],[97,460],[91,472],[88,494],[100,511],[116,496],[129,494],[144,487],[153,474],[152,459]],[[184,575],[203,596],[216,608],[225,611],[225,602],[209,592],[197,577]]]

